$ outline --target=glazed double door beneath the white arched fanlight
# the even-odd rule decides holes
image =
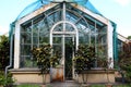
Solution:
[[[53,51],[59,51],[61,54],[60,65],[62,66],[57,71],[59,75],[63,75],[63,80],[73,79],[74,67],[73,58],[75,52],[75,36],[74,35],[53,35],[52,37]],[[61,71],[60,71],[61,70]],[[57,74],[56,74],[57,76]]]

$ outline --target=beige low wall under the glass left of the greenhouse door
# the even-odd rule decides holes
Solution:
[[[43,76],[38,69],[17,69],[10,70],[16,84],[22,83],[43,83]],[[50,83],[50,74],[46,74],[46,83]]]

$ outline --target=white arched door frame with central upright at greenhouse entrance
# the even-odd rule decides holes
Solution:
[[[59,24],[63,24],[63,27],[62,27],[62,30],[61,32],[53,32],[53,29],[56,28],[56,26],[58,26]],[[70,24],[72,27],[73,27],[73,32],[66,32],[66,25],[67,24]],[[66,49],[66,47],[64,47],[64,42],[66,42],[66,36],[67,35],[73,35],[74,37],[75,37],[75,50],[78,50],[78,47],[79,47],[79,30],[78,30],[78,28],[76,28],[76,26],[73,24],[73,23],[71,23],[71,22],[68,22],[68,21],[60,21],[60,22],[58,22],[58,23],[56,23],[52,27],[51,27],[51,29],[50,29],[50,46],[52,46],[52,41],[53,41],[53,35],[55,34],[57,34],[57,35],[62,35],[62,60],[63,60],[63,80],[66,80],[66,71],[64,71],[64,67],[66,67],[66,51],[64,51],[64,49]],[[73,58],[72,58],[73,59]],[[73,66],[73,70],[72,70],[72,75],[73,75],[73,78],[74,78],[74,66]]]

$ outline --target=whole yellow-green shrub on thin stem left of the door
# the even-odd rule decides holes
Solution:
[[[37,65],[40,69],[43,78],[44,78],[44,74],[45,74],[45,78],[44,78],[44,84],[45,84],[46,74],[49,73],[50,65],[53,67],[56,65],[58,65],[61,54],[60,54],[59,50],[56,50],[52,53],[50,45],[45,45],[40,48],[34,48],[32,50],[32,53],[33,53],[33,57],[35,58],[35,60],[37,60]]]

